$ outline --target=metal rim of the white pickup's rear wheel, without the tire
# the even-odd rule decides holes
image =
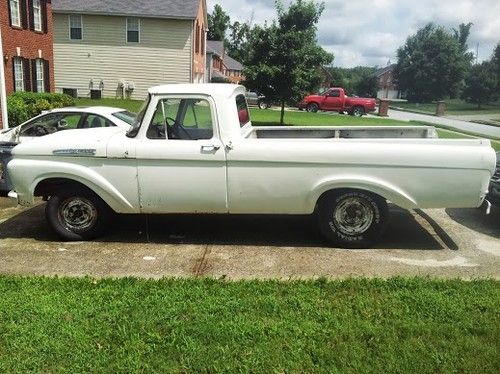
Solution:
[[[338,203],[333,218],[337,228],[343,234],[359,235],[370,228],[374,213],[368,201],[349,197]]]

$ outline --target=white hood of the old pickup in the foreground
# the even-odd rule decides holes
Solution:
[[[108,141],[121,132],[124,130],[119,127],[59,131],[21,143],[13,149],[12,154],[14,156],[106,157]]]

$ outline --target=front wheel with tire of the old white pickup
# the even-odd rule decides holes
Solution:
[[[45,206],[45,217],[56,234],[68,241],[95,238],[104,230],[110,208],[85,189],[58,191]]]

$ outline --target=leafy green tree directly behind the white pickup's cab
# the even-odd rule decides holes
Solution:
[[[324,5],[314,1],[293,1],[288,9],[276,2],[277,22],[257,26],[250,40],[250,55],[243,73],[250,88],[257,89],[281,105],[298,101],[321,83],[319,66],[329,64],[333,55],[316,39],[316,24]]]

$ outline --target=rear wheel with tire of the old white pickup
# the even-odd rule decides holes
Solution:
[[[321,233],[331,243],[343,248],[367,248],[383,232],[388,209],[380,196],[339,190],[321,199],[316,214]]]

